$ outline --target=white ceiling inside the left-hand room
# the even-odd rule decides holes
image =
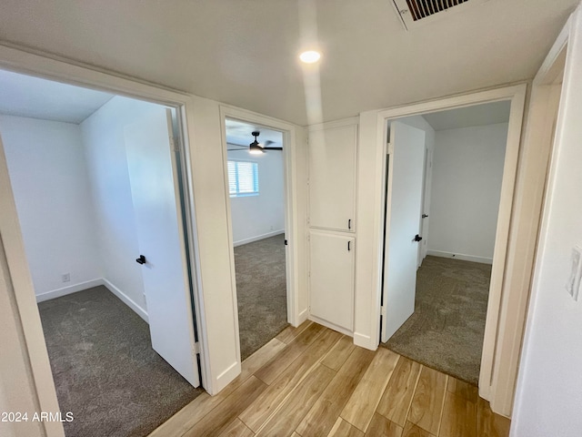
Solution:
[[[0,114],[79,124],[113,95],[0,70]]]

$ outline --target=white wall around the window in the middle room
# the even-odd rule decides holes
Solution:
[[[229,151],[228,159],[258,163],[258,196],[230,197],[235,246],[284,232],[283,152],[272,150],[250,155],[246,150]]]

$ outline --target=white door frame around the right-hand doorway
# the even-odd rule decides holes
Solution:
[[[521,145],[521,131],[524,117],[524,108],[527,97],[527,84],[517,84],[514,86],[503,86],[484,91],[477,91],[470,94],[444,97],[428,102],[395,107],[377,111],[376,118],[376,154],[384,156],[386,154],[386,129],[389,120],[426,114],[445,109],[467,107],[478,104],[490,103],[500,100],[511,102],[509,127],[507,132],[506,158],[503,172],[503,182],[501,188],[501,198],[499,213],[497,216],[497,231],[495,253],[492,266],[490,292],[487,305],[486,331],[483,345],[483,355],[481,361],[481,374],[479,376],[479,394],[481,397],[491,402],[494,411],[501,414],[510,415],[511,404],[515,387],[515,376],[505,374],[501,371],[508,363],[517,362],[519,356],[519,345],[523,333],[525,313],[512,312],[513,302],[527,296],[529,289],[529,279],[531,269],[520,269],[517,266],[517,259],[521,256],[516,248],[521,244],[517,239],[515,229],[521,221],[530,221],[531,218],[524,217],[521,212],[522,202],[514,201],[516,193],[517,171],[521,170],[527,162],[523,159],[519,162]],[[373,121],[373,120],[370,120]],[[374,126],[370,123],[368,126]],[[377,159],[376,165],[376,187],[384,187],[386,178],[386,165],[384,159]],[[517,187],[519,188],[519,187]],[[385,195],[382,190],[376,191],[375,227],[373,243],[376,251],[382,248],[382,229],[384,226],[384,204]],[[517,221],[516,221],[517,220]],[[374,266],[374,289],[376,296],[373,300],[373,330],[372,340],[379,343],[379,318],[380,318],[380,296],[381,296],[381,274],[382,263],[378,259],[373,260]],[[513,287],[508,286],[508,279],[514,282]],[[527,299],[527,298],[526,298]],[[512,343],[517,347],[507,348],[507,344]]]

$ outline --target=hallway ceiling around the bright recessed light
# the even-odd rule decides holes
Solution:
[[[306,46],[332,120],[531,78],[577,3],[489,0],[406,32],[391,0],[3,0],[0,41],[305,125]]]

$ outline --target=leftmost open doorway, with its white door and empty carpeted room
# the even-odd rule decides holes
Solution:
[[[67,400],[73,401],[75,405],[68,409],[75,417],[72,423],[87,427],[83,432],[74,433],[89,435],[87,429],[93,429],[101,435],[105,432],[105,425],[115,427],[116,424],[120,430],[125,429],[125,425],[135,425],[138,414],[127,409],[128,417],[116,414],[115,421],[95,422],[96,412],[103,407],[117,411],[118,404],[107,403],[103,391],[87,390],[87,384],[89,387],[106,385],[105,381],[91,380],[92,375],[100,373],[99,369],[105,371],[108,382],[115,379],[112,368],[117,370],[115,374],[123,373],[115,360],[125,357],[129,373],[138,379],[142,375],[141,381],[150,381],[146,386],[133,384],[136,389],[149,387],[155,391],[158,387],[164,391],[170,387],[168,395],[176,391],[180,393],[177,397],[180,405],[169,409],[163,407],[163,416],[152,415],[148,411],[151,409],[146,408],[146,415],[142,414],[146,423],[135,426],[145,426],[138,428],[143,432],[151,431],[201,392],[201,389],[192,387],[199,385],[196,357],[190,353],[195,344],[195,322],[189,304],[192,290],[186,282],[190,275],[182,269],[186,266],[186,249],[184,243],[179,243],[186,231],[180,222],[181,202],[176,201],[179,193],[179,185],[176,185],[179,184],[176,178],[178,157],[172,157],[175,146],[168,140],[176,137],[175,127],[180,123],[176,110],[31,76],[0,73],[0,83],[6,91],[3,91],[6,97],[3,105],[6,107],[2,112],[11,114],[1,116],[3,153],[25,239],[27,263],[37,300],[43,301],[39,308],[61,408],[65,409]],[[60,105],[55,105],[55,102]],[[174,110],[174,117],[166,109]],[[147,127],[140,125],[145,120]],[[149,130],[146,137],[152,139],[161,135],[163,142],[160,144],[165,153],[152,159],[152,150],[146,152],[145,149],[146,139],[139,139],[143,159],[138,166],[145,168],[148,162],[164,162],[155,175],[149,172],[150,183],[156,187],[156,198],[150,198],[147,203],[147,217],[156,216],[160,205],[157,200],[162,200],[168,208],[159,215],[173,222],[164,226],[175,232],[164,237],[166,243],[172,242],[172,247],[167,244],[152,247],[151,241],[140,238],[140,233],[144,230],[147,233],[147,229],[134,222],[137,216],[144,214],[133,200],[139,197],[140,190],[143,194],[147,186],[139,183],[139,178],[135,181],[135,176],[139,175],[135,175],[135,168],[128,164],[136,164],[136,159],[130,158],[127,147],[114,147],[120,143],[126,146],[131,137],[135,137],[132,129],[144,134],[154,122],[161,126],[162,133],[159,134],[157,129],[156,132]],[[176,162],[171,162],[173,159]],[[171,198],[168,197],[170,194]],[[171,205],[174,207],[170,208]],[[142,229],[137,229],[140,227]],[[135,262],[142,259],[140,254],[146,254],[143,264]],[[186,349],[182,349],[189,357],[189,369],[181,367],[183,362],[173,355],[174,351],[165,349],[165,341],[160,344],[155,340],[160,333],[165,335],[168,330],[176,330],[176,324],[160,322],[163,318],[158,317],[159,312],[167,311],[169,305],[160,308],[153,303],[159,287],[148,289],[152,281],[145,278],[142,271],[148,269],[148,273],[155,274],[160,268],[160,261],[156,260],[159,255],[178,259],[175,264],[180,271],[166,278],[167,283],[175,279],[177,282],[168,286],[164,293],[167,302],[177,301],[180,308],[186,308],[186,311],[178,310],[182,313],[176,313],[171,320],[187,321],[186,332],[175,332],[171,346],[179,346],[179,338],[185,340]],[[182,300],[187,300],[188,304]],[[101,335],[107,330],[111,330],[111,335]],[[64,339],[67,332],[69,335]],[[73,339],[77,334],[78,338]],[[120,336],[119,340],[115,340],[114,334]],[[95,340],[97,337],[105,337],[105,340]],[[152,350],[150,341],[156,351]],[[68,352],[76,355],[67,355]],[[100,361],[107,357],[115,363]],[[150,369],[153,373],[150,371],[150,377],[144,377],[150,364],[154,366]],[[181,371],[184,378],[173,368]],[[154,373],[166,375],[168,379],[157,381],[151,376]],[[79,381],[85,385],[79,386]],[[181,388],[175,386],[176,390],[173,390],[173,381]],[[124,403],[129,405],[146,404],[146,391],[138,394],[142,403],[135,399],[131,401],[135,394],[131,385],[114,382],[117,398],[125,399]],[[79,412],[79,399],[75,398],[75,393],[79,392],[85,393],[85,401],[86,396],[91,396],[85,402],[91,415],[85,413],[86,409]],[[150,395],[157,403],[158,397],[159,391],[153,397]],[[78,412],[76,416],[75,412]],[[71,432],[70,427],[67,432]]]

